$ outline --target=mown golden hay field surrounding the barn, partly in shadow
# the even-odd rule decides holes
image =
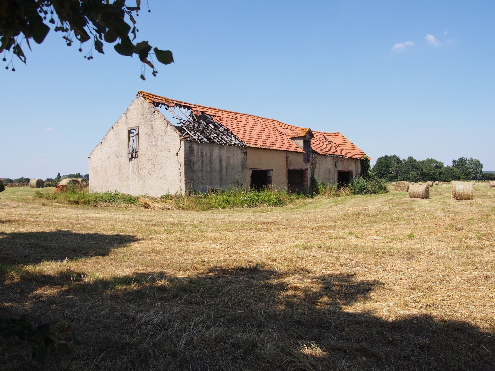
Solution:
[[[495,188],[203,212],[7,188],[0,316],[71,324],[49,370],[494,370]],[[29,369],[21,348],[2,370]]]

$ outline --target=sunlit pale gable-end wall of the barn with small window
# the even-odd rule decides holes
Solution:
[[[135,127],[139,157],[129,159],[128,130]],[[142,96],[136,97],[90,155],[90,192],[184,193],[181,144],[179,132],[161,112]]]

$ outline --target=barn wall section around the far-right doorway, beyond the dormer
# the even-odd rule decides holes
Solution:
[[[314,176],[318,182],[337,183],[339,170],[351,171],[351,178],[355,178],[361,173],[361,162],[356,158],[316,155]]]

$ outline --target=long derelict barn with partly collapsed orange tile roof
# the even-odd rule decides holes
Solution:
[[[358,176],[364,154],[340,133],[140,91],[89,156],[90,191],[160,196],[240,183],[301,190],[311,169],[325,184]]]

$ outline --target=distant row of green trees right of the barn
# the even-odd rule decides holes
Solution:
[[[495,180],[495,174],[483,173],[483,164],[472,157],[460,157],[452,160],[452,166],[445,166],[434,158],[416,160],[412,156],[400,159],[397,155],[386,155],[376,160],[373,172],[388,182]]]

